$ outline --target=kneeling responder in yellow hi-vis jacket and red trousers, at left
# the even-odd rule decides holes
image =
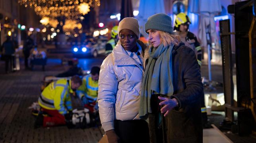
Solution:
[[[49,127],[66,124],[65,117],[72,113],[72,102],[70,95],[82,84],[78,75],[74,75],[70,80],[59,79],[50,83],[41,93],[38,103],[41,112],[47,113],[43,116],[39,113],[35,121],[35,128],[40,126]]]

